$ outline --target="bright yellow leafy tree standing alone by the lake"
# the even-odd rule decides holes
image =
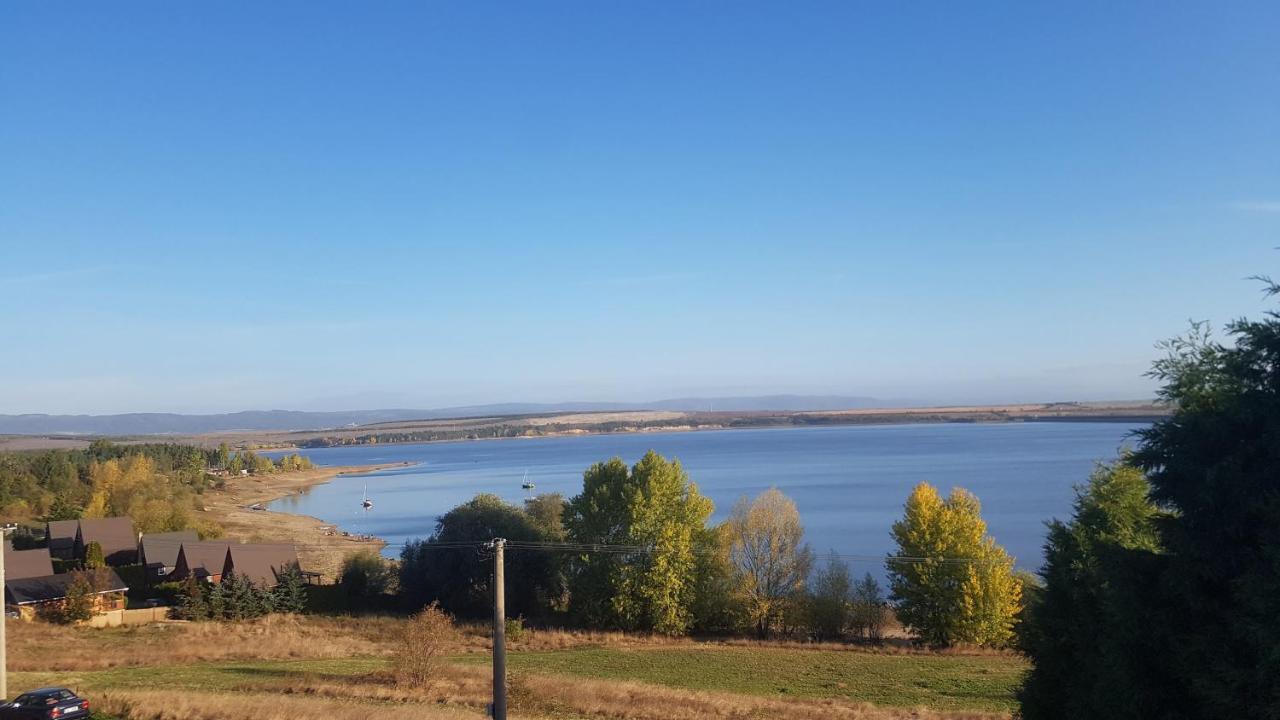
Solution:
[[[945,501],[920,483],[893,524],[888,561],[899,619],[933,646],[1004,646],[1021,609],[1014,562],[987,536],[980,505],[956,488]]]

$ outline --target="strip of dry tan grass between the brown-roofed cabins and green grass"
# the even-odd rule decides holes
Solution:
[[[403,620],[273,615],[244,623],[160,623],[133,628],[9,624],[10,670],[101,670],[219,660],[383,656]],[[56,647],[58,652],[49,648]]]

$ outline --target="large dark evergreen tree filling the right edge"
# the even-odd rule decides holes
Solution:
[[[1280,287],[1268,282],[1275,295]],[[1133,464],[1147,474],[1158,547],[1146,525],[1120,514],[1100,560],[1083,579],[1066,561],[1085,556],[1059,530],[1050,550],[1044,609],[1029,633],[1036,671],[1024,689],[1029,717],[1060,717],[1052,678],[1070,678],[1091,707],[1111,703],[1111,717],[1280,717],[1280,314],[1228,325],[1230,342],[1207,325],[1166,343],[1152,375],[1172,415],[1139,433]],[[1079,518],[1076,519],[1079,524]],[[1134,546],[1134,547],[1126,547]],[[1064,566],[1065,565],[1065,566]],[[1105,665],[1075,674],[1085,655],[1055,644],[1060,616],[1089,614],[1106,646]],[[1042,626],[1043,623],[1043,626]],[[1088,643],[1093,630],[1066,641]],[[1038,643],[1038,644],[1037,644]]]

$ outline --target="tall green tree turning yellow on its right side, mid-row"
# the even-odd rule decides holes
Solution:
[[[564,511],[571,541],[622,546],[573,559],[571,609],[598,626],[681,634],[696,603],[698,542],[710,500],[678,461],[649,451],[631,469],[614,457],[582,475]]]

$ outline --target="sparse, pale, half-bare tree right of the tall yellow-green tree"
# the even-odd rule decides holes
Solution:
[[[813,568],[800,511],[778,488],[769,488],[754,501],[741,498],[727,525],[748,618],[759,637],[768,637],[804,589]]]

